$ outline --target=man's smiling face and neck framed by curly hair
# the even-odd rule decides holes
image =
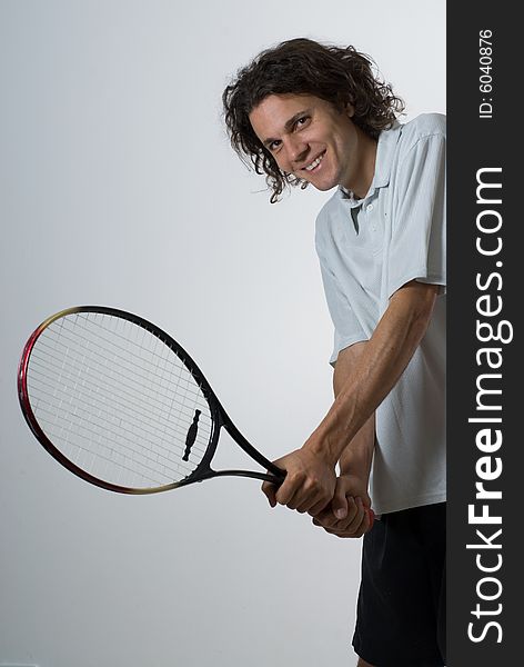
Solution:
[[[342,186],[364,197],[373,179],[376,143],[352,121],[309,94],[270,94],[250,113],[251,126],[279,168],[319,190]]]

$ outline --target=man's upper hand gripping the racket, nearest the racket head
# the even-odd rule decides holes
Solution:
[[[288,475],[280,487],[269,481],[262,485],[271,507],[286,505],[314,517],[331,504],[336,475],[334,467],[322,456],[302,448],[274,462]]]

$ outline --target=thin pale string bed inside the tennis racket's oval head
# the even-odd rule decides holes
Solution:
[[[28,392],[53,445],[119,486],[181,481],[213,430],[205,396],[183,361],[152,332],[115,316],[79,312],[52,322],[31,351]]]

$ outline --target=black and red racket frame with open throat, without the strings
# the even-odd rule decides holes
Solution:
[[[204,395],[205,400],[208,401],[210,412],[211,412],[211,424],[212,430],[210,435],[209,445],[206,447],[205,454],[202,457],[200,464],[196,468],[188,475],[188,477],[183,478],[180,481],[173,481],[170,484],[161,485],[158,487],[148,487],[148,488],[133,488],[125,487],[112,484],[110,481],[105,481],[98,477],[94,477],[90,472],[83,470],[73,461],[71,461],[62,451],[60,451],[52,441],[44,434],[42,428],[40,427],[38,419],[32,410],[31,401],[28,391],[28,369],[29,361],[31,358],[31,352],[34,348],[34,345],[41,334],[54,321],[68,317],[70,315],[77,315],[81,312],[93,312],[100,315],[109,315],[115,316],[121,319],[128,320],[139,327],[142,327],[157,338],[161,340],[164,345],[167,345],[184,364],[185,368],[190,371],[195,382],[199,385],[202,394]],[[175,489],[178,487],[187,486],[193,484],[195,481],[203,481],[204,479],[212,479],[213,477],[251,477],[254,479],[261,479],[265,481],[271,481],[275,485],[280,485],[284,477],[285,471],[275,466],[272,461],[266,459],[258,449],[255,449],[240,432],[233,421],[230,419],[228,414],[225,412],[223,406],[216,398],[216,395],[212,390],[210,384],[205,379],[204,375],[196,366],[194,360],[190,357],[190,355],[182,348],[182,346],[174,340],[169,334],[153,325],[149,320],[128,312],[125,310],[119,310],[117,308],[111,308],[107,306],[77,306],[73,308],[67,308],[52,315],[47,318],[41,325],[37,327],[37,329],[29,337],[18,367],[18,396],[20,401],[20,407],[22,409],[22,414],[26,418],[26,421],[31,429],[32,434],[37,438],[37,440],[43,446],[43,448],[56,459],[58,460],[64,468],[77,475],[78,477],[89,481],[90,484],[101,487],[103,489],[115,491],[119,494],[129,494],[129,495],[149,495],[149,494],[158,494],[161,491],[168,491],[171,489]],[[211,468],[211,461],[216,451],[216,447],[219,444],[220,431],[224,428],[229,435],[235,440],[239,447],[251,458],[253,458],[262,468],[268,470],[268,472],[258,472],[254,470],[214,470]]]

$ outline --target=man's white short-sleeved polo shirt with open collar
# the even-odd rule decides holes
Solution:
[[[371,338],[390,297],[410,280],[442,286],[429,329],[376,410],[370,495],[376,514],[445,500],[445,117],[381,132],[364,199],[342,189],[316,219],[339,352]]]

